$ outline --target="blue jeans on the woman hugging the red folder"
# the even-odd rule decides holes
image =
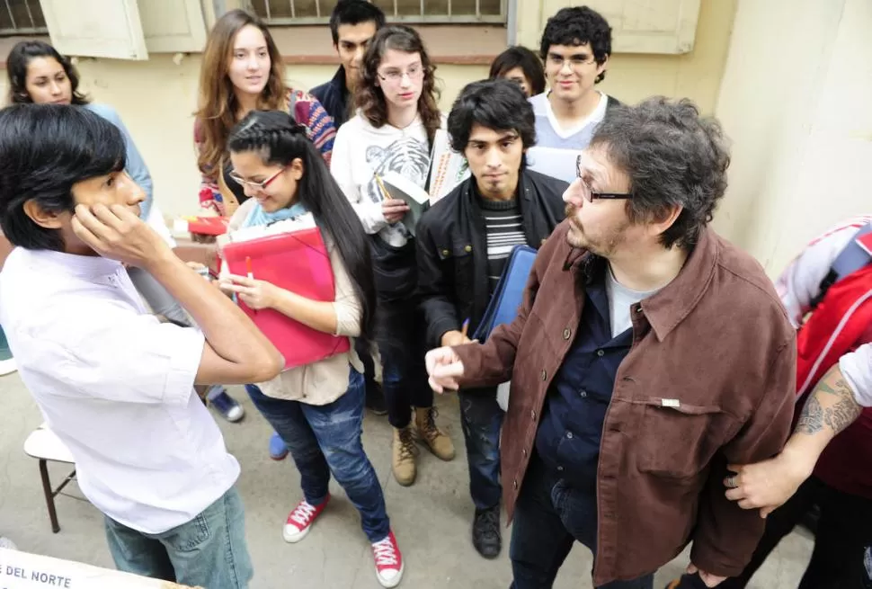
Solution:
[[[363,451],[366,393],[360,372],[350,370],[348,390],[329,405],[267,397],[254,385],[245,385],[245,390],[257,410],[288,444],[306,501],[312,505],[323,503],[333,474],[360,512],[369,541],[384,540],[390,522],[376,471]]]

